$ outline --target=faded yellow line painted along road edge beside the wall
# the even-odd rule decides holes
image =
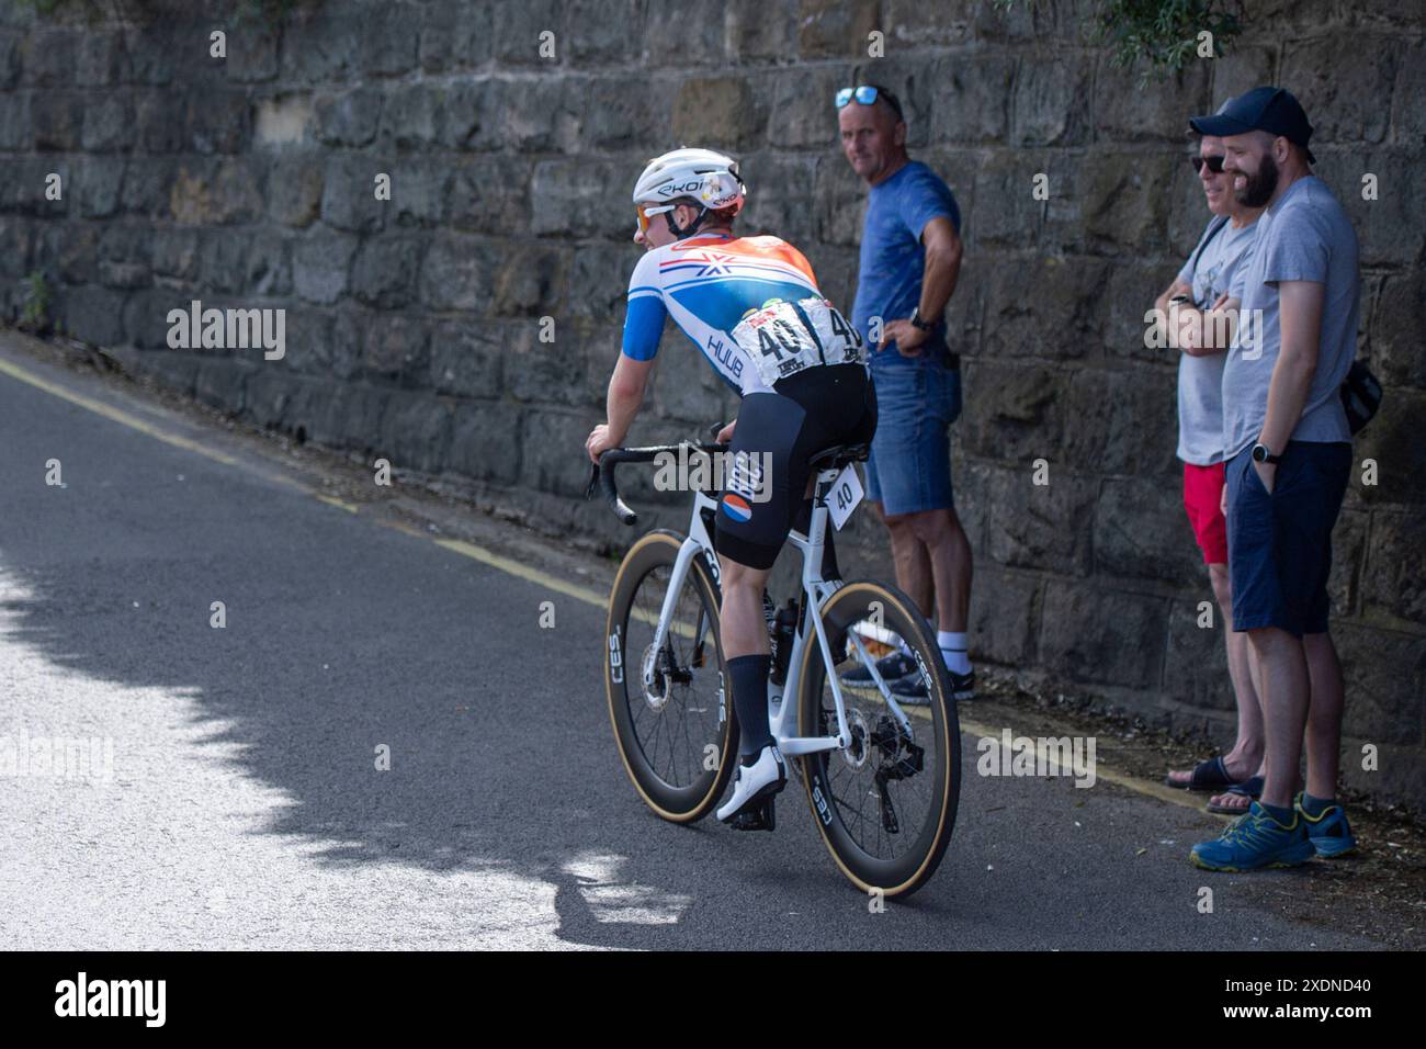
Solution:
[[[185,451],[197,452],[198,455],[204,455],[210,460],[214,460],[215,462],[222,462],[224,465],[228,467],[251,468],[248,467],[248,464],[241,462],[240,460],[234,458],[232,455],[228,455],[227,452],[221,452],[215,448],[208,448],[200,444],[198,441],[190,440],[187,437],[167,432],[165,430],[138,418],[133,412],[123,411],[121,408],[114,408],[113,405],[104,404],[103,401],[97,401],[93,397],[86,397],[83,394],[66,390],[64,387],[50,382],[48,380],[41,378],[40,375],[36,375],[34,373],[20,367],[19,364],[4,360],[3,357],[0,357],[0,373],[4,373],[6,375],[10,375],[11,378],[16,378],[21,382],[29,382],[37,390],[43,390],[44,392],[58,397],[63,401],[68,401],[70,404],[76,404],[80,408],[87,408],[88,411],[93,411],[96,415],[103,415],[107,420],[120,422],[125,427],[130,427],[131,430],[137,430],[141,434],[147,434],[148,437],[153,437],[157,441],[163,441],[164,444],[171,444],[175,448],[183,448]],[[294,481],[292,478],[284,474],[275,474],[262,470],[258,470],[257,472],[270,481],[275,481],[285,487],[297,488],[298,491],[312,495],[319,502],[325,502],[331,507],[338,507],[339,510],[345,510],[349,514],[358,512],[358,508],[354,504],[344,502],[331,495],[325,495],[317,491],[315,488]],[[368,520],[375,521],[375,518],[368,518]],[[491,549],[486,549],[485,547],[478,547],[473,542],[466,542],[463,539],[436,539],[426,535],[419,528],[412,528],[411,525],[405,525],[401,522],[375,521],[375,524],[379,524],[384,528],[392,528],[395,531],[405,532],[406,535],[414,535],[422,539],[428,539],[431,542],[435,542],[435,545],[438,547],[443,547],[445,549],[449,549],[455,554],[461,554],[462,557],[479,561],[481,564],[489,565],[491,568],[502,571],[506,575],[513,575],[516,578],[525,579],[526,582],[533,582],[539,587],[543,587],[545,589],[555,591],[556,594],[572,597],[576,601],[583,601],[596,608],[607,608],[606,595],[599,594],[597,591],[593,591],[589,587],[579,587],[576,584],[555,578],[548,572],[542,572],[538,568],[530,568],[529,565],[522,565],[519,561],[512,561],[508,557],[502,557]],[[686,625],[683,625],[683,631],[692,632]],[[907,709],[917,711],[917,708],[914,706]],[[991,736],[995,738],[997,741],[1000,739],[1000,735],[994,729],[985,725],[978,725],[973,721],[961,721],[961,729],[974,732],[975,735],[980,736]],[[1055,764],[1054,758],[1051,758],[1048,754],[1045,755],[1045,758],[1048,764]],[[1159,801],[1169,802],[1171,805],[1182,805],[1186,808],[1202,811],[1199,802],[1195,801],[1188,791],[1175,791],[1174,788],[1165,784],[1154,784],[1147,779],[1138,779],[1135,776],[1129,776],[1122,772],[1115,772],[1112,769],[1105,768],[1099,762],[1095,762],[1095,776],[1098,779],[1105,779],[1118,786],[1124,786],[1129,791],[1134,791],[1135,794],[1142,794],[1149,798],[1158,798]]]

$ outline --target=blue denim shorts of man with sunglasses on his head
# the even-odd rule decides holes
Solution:
[[[894,351],[891,351],[894,353]],[[867,460],[867,498],[884,514],[950,510],[947,427],[961,414],[961,371],[943,355],[873,365],[877,434]]]

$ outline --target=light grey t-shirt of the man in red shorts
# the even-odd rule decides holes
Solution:
[[[1194,305],[1206,310],[1228,291],[1252,255],[1256,237],[1256,221],[1238,230],[1224,218],[1208,223],[1178,271],[1178,278],[1194,288]],[[1178,457],[1196,467],[1224,461],[1224,357],[1178,355]]]

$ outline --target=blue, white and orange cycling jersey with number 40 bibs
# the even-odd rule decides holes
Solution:
[[[700,234],[645,253],[629,280],[625,355],[653,360],[667,317],[744,395],[814,364],[861,360],[861,338],[777,237]]]

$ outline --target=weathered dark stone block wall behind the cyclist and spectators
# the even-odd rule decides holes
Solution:
[[[1174,458],[1175,361],[1144,348],[1142,313],[1206,218],[1186,116],[1291,87],[1356,223],[1360,353],[1387,387],[1356,448],[1379,484],[1355,474],[1336,532],[1346,775],[1426,796],[1419,7],[1249,3],[1229,57],[1141,88],[1084,43],[1082,3],[1005,16],[925,0],[325,0],[277,26],[211,3],[128,0],[131,17],[108,20],[73,6],[0,7],[9,318],[20,278],[43,271],[64,328],[135,371],[619,542],[576,497],[637,257],[627,187],[642,163],[679,143],[734,151],[752,186],[742,225],[799,244],[850,303],[864,193],[830,98],[857,73],[898,88],[913,154],[964,216],[953,448],[977,557],[974,655],[1224,739],[1222,624],[1195,624],[1212,595]],[[218,27],[225,59],[210,57]],[[873,30],[883,59],[866,57]],[[46,200],[48,173],[63,200]],[[378,173],[389,201],[374,198]],[[168,350],[167,313],[193,298],[285,308],[285,358]],[[635,437],[690,435],[730,411],[670,337]],[[629,488],[652,520],[682,518],[647,478]],[[850,539],[844,559],[888,571],[870,521]],[[1360,771],[1365,742],[1379,772]]]

